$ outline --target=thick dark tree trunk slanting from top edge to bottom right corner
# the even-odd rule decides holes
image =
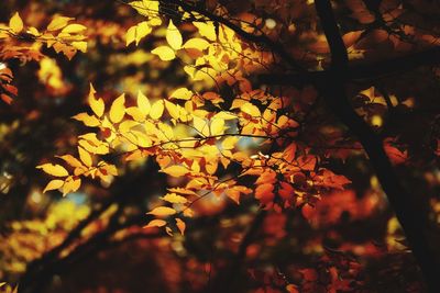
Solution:
[[[346,49],[343,46],[331,3],[329,0],[316,0],[315,4],[332,56],[330,69],[332,75],[329,76],[328,80],[321,81],[319,84],[320,91],[333,113],[358,136],[363,145],[376,171],[378,181],[405,232],[407,241],[420,266],[430,292],[440,292],[440,263],[436,259],[433,249],[428,241],[426,232],[429,221],[427,215],[416,204],[417,199],[414,199],[403,188],[386,156],[381,138],[352,109],[344,89],[346,76],[344,67],[348,63],[344,55],[346,55]]]

